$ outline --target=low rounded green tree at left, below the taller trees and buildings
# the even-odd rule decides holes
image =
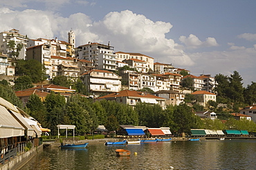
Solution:
[[[32,84],[30,76],[19,76],[19,78],[15,80],[14,87],[16,91],[19,91],[32,88],[34,85]]]

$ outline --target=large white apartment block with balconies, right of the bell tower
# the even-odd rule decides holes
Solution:
[[[80,45],[76,49],[77,59],[85,59],[93,62],[98,70],[116,70],[116,54],[113,47],[100,43],[89,42],[86,45]]]

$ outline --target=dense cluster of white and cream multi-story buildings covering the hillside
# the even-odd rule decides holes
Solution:
[[[191,93],[181,88],[181,82],[192,78],[196,91],[201,95],[210,95],[216,100],[214,87],[217,82],[210,74],[199,76],[182,76],[188,72],[172,63],[154,62],[152,56],[139,52],[115,52],[114,47],[100,43],[89,42],[75,46],[75,32],[67,34],[68,42],[55,39],[28,39],[19,30],[9,30],[0,33],[1,70],[0,75],[15,76],[14,59],[35,59],[46,67],[48,80],[55,76],[67,76],[71,80],[81,78],[91,97],[100,94],[111,94],[121,90],[140,90],[145,87],[156,92],[156,96],[165,98],[163,106],[179,105],[184,94]],[[119,70],[120,68],[129,68]],[[205,92],[207,94],[205,94]],[[200,92],[197,92],[199,95]],[[206,96],[208,100],[208,96]],[[144,100],[146,103],[153,100]],[[155,102],[155,101],[154,101]],[[205,103],[201,103],[205,105]]]

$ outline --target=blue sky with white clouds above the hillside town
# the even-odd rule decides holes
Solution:
[[[110,42],[190,70],[190,74],[239,72],[244,87],[256,82],[255,0],[1,0],[0,32],[75,46]]]

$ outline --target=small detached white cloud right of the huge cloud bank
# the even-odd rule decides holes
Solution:
[[[180,36],[179,41],[184,43],[188,48],[199,48],[199,47],[214,47],[218,46],[216,39],[208,37],[204,42],[199,40],[194,34],[190,34],[188,38],[186,36]]]

